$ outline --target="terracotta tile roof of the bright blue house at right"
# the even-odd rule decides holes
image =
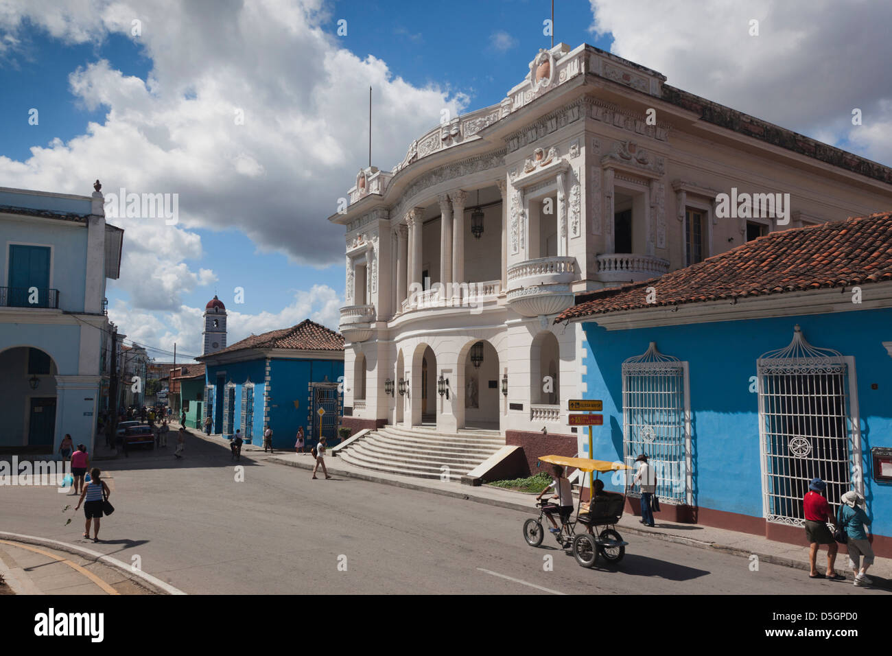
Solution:
[[[576,296],[555,323],[645,307],[705,303],[892,280],[892,212],[772,232],[686,269]],[[647,303],[646,287],[656,289]]]

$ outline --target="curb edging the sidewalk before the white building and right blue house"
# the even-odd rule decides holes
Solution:
[[[299,461],[287,461],[282,458],[269,458],[268,461],[276,462],[277,464],[287,465],[290,467],[297,467],[300,469],[313,469],[313,462],[299,462]],[[327,465],[327,463],[326,463]],[[484,497],[475,496],[474,494],[464,494],[461,492],[452,492],[450,490],[438,490],[434,487],[422,486],[417,483],[412,483],[410,481],[401,481],[401,480],[391,480],[389,478],[377,477],[374,474],[361,474],[359,472],[354,471],[345,471],[343,469],[335,469],[332,467],[328,467],[329,474],[337,474],[338,476],[350,477],[350,478],[358,478],[359,480],[367,480],[372,483],[382,483],[388,486],[402,487],[409,490],[418,490],[420,492],[427,492],[429,494],[440,494],[441,496],[450,496],[454,499],[462,499],[465,501],[472,501],[477,503],[483,503],[485,505],[497,506],[500,508],[507,508],[512,511],[521,511],[521,512],[530,512],[531,508],[528,505],[524,505],[522,503],[514,503],[508,501],[502,501],[500,499],[487,499]],[[519,493],[523,494],[523,493]],[[695,540],[691,537],[684,536],[674,536],[669,533],[660,533],[659,531],[648,531],[638,527],[629,527],[624,526],[623,530],[639,536],[648,536],[656,538],[657,540],[663,540],[664,542],[672,542],[675,544],[684,544],[686,546],[695,547],[697,549],[714,549],[716,551],[728,553],[732,556],[739,556],[740,558],[749,558],[752,555],[755,555],[760,562],[766,562],[771,565],[780,565],[781,567],[789,567],[792,569],[802,569],[803,571],[808,571],[808,563],[805,561],[798,561],[792,558],[785,558],[783,556],[775,556],[771,553],[762,553],[762,552],[751,552],[748,549],[741,549],[740,547],[731,546],[728,544],[720,544],[717,542],[706,542],[704,540]],[[840,568],[842,569],[842,568]],[[842,574],[847,580],[854,580],[854,575],[852,575],[849,571],[846,572],[838,572]],[[881,587],[880,585],[874,585],[875,587]],[[885,589],[885,588],[884,588]]]

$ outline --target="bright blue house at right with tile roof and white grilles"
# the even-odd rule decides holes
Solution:
[[[759,237],[558,320],[581,322],[583,395],[604,402],[593,457],[648,454],[665,517],[801,543],[819,476],[833,508],[865,496],[892,556],[890,214]]]

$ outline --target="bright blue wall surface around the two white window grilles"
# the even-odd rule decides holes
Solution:
[[[789,345],[795,324],[810,344],[855,358],[868,514],[874,533],[892,536],[892,486],[872,480],[870,458],[872,446],[892,446],[892,358],[882,345],[892,340],[890,310],[614,331],[585,323],[584,397],[604,401],[593,457],[623,459],[622,363],[654,341],[660,353],[689,362],[695,504],[763,517],[758,395],[750,377],[762,354]]]

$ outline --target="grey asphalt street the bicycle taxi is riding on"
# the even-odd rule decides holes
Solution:
[[[583,569],[551,536],[540,548],[524,543],[532,497],[523,513],[321,473],[311,480],[263,453],[235,463],[225,444],[194,437],[176,461],[169,444],[95,463],[116,508],[103,519],[103,543],[81,537],[82,511],[53,487],[0,487],[0,527],[137,561],[190,594],[888,594],[637,535],[624,536],[623,561]]]

